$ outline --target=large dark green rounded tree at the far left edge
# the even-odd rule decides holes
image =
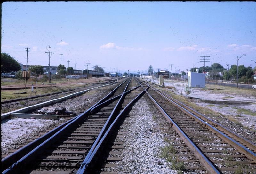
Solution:
[[[9,54],[1,53],[1,72],[10,73],[11,71],[19,71],[20,64]]]

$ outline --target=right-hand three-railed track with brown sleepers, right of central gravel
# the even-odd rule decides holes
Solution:
[[[166,94],[163,95],[152,87],[148,89],[147,94],[208,173],[256,172],[253,143],[241,138],[251,151],[178,105],[177,103],[181,103],[177,100],[176,103],[173,102],[170,97],[165,96]],[[218,126],[225,129],[219,124]]]

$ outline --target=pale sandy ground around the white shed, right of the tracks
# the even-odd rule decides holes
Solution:
[[[158,79],[152,83],[159,83]],[[208,85],[205,88],[191,88],[191,93],[184,91],[187,82],[165,80],[165,86],[177,95],[195,97],[194,103],[210,108],[223,115],[231,117],[243,126],[256,129],[256,91],[236,89],[233,87]]]

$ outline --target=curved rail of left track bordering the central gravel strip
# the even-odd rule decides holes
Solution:
[[[138,82],[139,83],[139,82]],[[141,84],[140,84],[141,85]],[[143,88],[144,89],[144,88]],[[113,128],[116,126],[117,121],[120,119],[120,117],[127,111],[131,105],[138,100],[144,93],[146,89],[144,89],[139,95],[137,95],[128,105],[124,107],[124,109],[116,116],[115,120],[111,123],[111,125],[108,127],[108,130],[104,133],[102,138],[100,139],[100,142],[97,144],[97,146],[94,148],[90,156],[84,160],[82,163],[80,169],[77,171],[77,174],[84,174],[84,173],[90,173],[86,170],[89,170],[90,167],[92,167],[92,160],[96,156],[97,153],[99,153],[99,149],[103,146],[103,141],[106,139],[107,136],[110,135],[110,133],[113,131]],[[127,94],[127,93],[126,93]],[[122,97],[126,95],[125,93],[122,94]]]

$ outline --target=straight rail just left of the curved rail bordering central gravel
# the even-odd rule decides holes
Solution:
[[[132,78],[129,78],[130,81]],[[124,92],[126,91],[126,89],[128,88],[128,85],[130,83],[130,81],[128,82],[128,84],[126,85],[125,89],[124,89]],[[114,107],[113,111],[111,112],[110,116],[108,117],[108,120],[106,121],[106,123],[104,124],[103,128],[101,129],[100,131],[100,134],[98,135],[97,139],[94,141],[90,151],[88,152],[88,154],[86,155],[85,159],[84,159],[84,162],[86,162],[89,157],[91,156],[92,152],[94,151],[95,147],[98,145],[100,139],[102,138],[102,136],[104,135],[104,133],[106,132],[106,129],[108,129],[109,127],[109,124],[111,124],[111,120],[112,118],[114,117],[113,115],[116,114],[117,112],[117,107],[119,107],[120,103],[121,103],[121,100],[123,99],[123,96],[124,96],[124,92],[122,93],[122,96],[120,97],[120,99],[118,100],[116,106]],[[83,163],[84,163],[83,162]]]

